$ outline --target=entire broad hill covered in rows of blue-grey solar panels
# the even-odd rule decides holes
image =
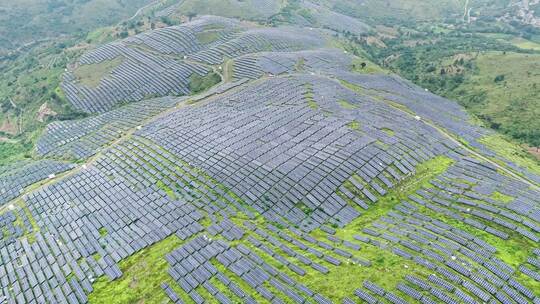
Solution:
[[[200,29],[216,40],[178,38]],[[207,16],[83,55],[128,59],[94,89],[67,72],[99,114],[49,125],[36,152],[73,168],[3,203],[3,299],[538,303],[537,177],[456,103],[351,72],[328,33]],[[222,81],[174,96],[189,76],[154,62]]]

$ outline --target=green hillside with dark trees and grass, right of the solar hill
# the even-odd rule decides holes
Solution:
[[[377,34],[360,41],[380,65],[460,102],[487,126],[538,147],[540,44],[492,29],[400,24],[378,27]]]

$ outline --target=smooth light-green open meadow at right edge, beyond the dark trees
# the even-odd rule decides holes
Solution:
[[[488,127],[540,146],[540,54],[490,52],[454,92]],[[495,81],[504,76],[502,81]]]

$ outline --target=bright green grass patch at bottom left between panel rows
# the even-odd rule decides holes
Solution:
[[[89,302],[103,304],[167,302],[167,295],[162,291],[160,284],[168,282],[173,285],[173,282],[167,273],[169,265],[165,255],[183,243],[172,235],[120,261],[122,276],[115,281],[110,281],[107,277],[96,280],[93,284],[94,291],[88,296]]]

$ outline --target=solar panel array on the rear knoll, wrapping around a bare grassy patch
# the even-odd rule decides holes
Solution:
[[[206,37],[206,38],[205,38]],[[83,54],[78,66],[120,59],[96,87],[80,83],[74,69],[64,74],[69,102],[89,113],[149,97],[188,95],[193,75],[204,76],[225,58],[260,51],[291,51],[321,46],[320,35],[295,28],[249,28],[233,19],[203,16],[105,44]]]

